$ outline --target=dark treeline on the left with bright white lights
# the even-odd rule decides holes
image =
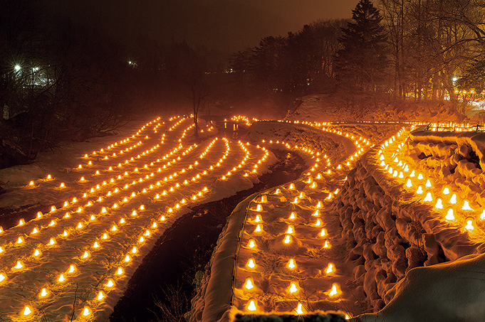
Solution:
[[[150,39],[130,46],[40,0],[0,0],[0,8],[0,168],[134,117],[179,112],[187,75],[215,68],[204,48]]]

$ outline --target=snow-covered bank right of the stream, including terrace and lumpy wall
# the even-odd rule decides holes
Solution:
[[[234,211],[190,321],[315,310],[348,319],[376,312],[355,321],[483,321],[484,135],[410,133],[417,123],[323,123],[307,103],[299,114],[312,117],[293,126],[330,131],[342,143],[366,138],[372,149],[360,156],[345,144],[319,146],[315,141],[325,139],[312,131],[296,135],[301,128],[288,120],[264,130],[264,122],[254,124],[254,141],[308,146],[320,158],[311,164],[307,156],[311,168],[302,178],[253,195]],[[348,159],[328,162],[325,154]],[[228,259],[234,252],[236,259]]]

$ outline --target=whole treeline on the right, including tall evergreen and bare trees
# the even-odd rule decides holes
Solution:
[[[484,97],[485,1],[362,0],[351,21],[317,21],[234,54],[241,87],[385,100]]]

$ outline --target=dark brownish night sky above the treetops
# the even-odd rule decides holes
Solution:
[[[50,0],[112,36],[166,43],[186,39],[226,53],[286,36],[319,18],[350,18],[358,0]]]

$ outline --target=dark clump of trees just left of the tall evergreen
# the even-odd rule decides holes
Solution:
[[[332,92],[334,56],[347,21],[315,21],[288,36],[268,36],[234,54],[231,72],[241,87],[274,92]]]

